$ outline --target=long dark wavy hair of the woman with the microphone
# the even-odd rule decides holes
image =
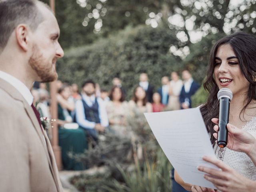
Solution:
[[[244,112],[252,100],[256,99],[256,82],[253,81],[253,77],[256,76],[256,38],[245,32],[235,32],[230,36],[218,40],[212,47],[209,55],[206,80],[204,82],[204,89],[209,93],[209,96],[206,103],[200,107],[200,110],[206,128],[211,134],[211,142],[213,145],[215,144],[215,139],[212,136],[214,133],[214,123],[212,123],[211,119],[218,118],[219,116],[219,102],[217,98],[219,88],[214,80],[215,56],[218,48],[224,44],[228,44],[232,47],[238,58],[242,74],[248,82],[250,82],[244,101],[245,106],[241,113]]]

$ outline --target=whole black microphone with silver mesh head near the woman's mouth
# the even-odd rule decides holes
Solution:
[[[227,124],[229,120],[229,106],[233,94],[230,89],[222,88],[218,91],[217,96],[218,100],[220,101],[219,130],[217,144],[220,148],[224,148],[228,143]]]

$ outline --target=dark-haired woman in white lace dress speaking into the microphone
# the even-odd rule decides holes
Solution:
[[[235,170],[242,180],[256,180],[256,166],[254,164],[256,162],[248,151],[241,151],[230,145],[226,148],[219,148],[215,143],[216,138],[214,136],[216,136],[215,131],[217,129],[214,125],[218,123],[216,118],[219,116],[217,93],[221,88],[229,88],[232,91],[233,98],[230,102],[229,114],[229,122],[232,125],[230,126],[234,125],[256,138],[255,45],[256,38],[244,32],[236,32],[216,42],[210,52],[204,83],[204,88],[208,91],[209,96],[206,103],[200,106],[216,156],[225,163],[225,166]],[[241,191],[241,189],[230,190],[229,185],[235,186],[234,180],[231,179],[235,175],[229,174],[231,175],[230,179],[226,180],[224,186],[218,186],[218,188],[222,191]],[[185,184],[180,180],[177,173],[175,173],[175,179],[187,190],[193,192],[211,191],[200,186]],[[243,182],[241,182],[242,185]]]

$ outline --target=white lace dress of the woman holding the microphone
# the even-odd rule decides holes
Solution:
[[[242,130],[252,134],[256,138],[256,117],[253,117]],[[214,151],[218,159],[228,164],[238,173],[242,174],[250,180],[256,180],[256,166],[252,160],[243,152],[236,152],[228,148],[220,148],[215,145]]]

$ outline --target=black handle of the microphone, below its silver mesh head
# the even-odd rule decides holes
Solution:
[[[219,131],[217,144],[219,147],[226,147],[228,143],[227,124],[229,120],[230,99],[228,97],[220,98]]]

